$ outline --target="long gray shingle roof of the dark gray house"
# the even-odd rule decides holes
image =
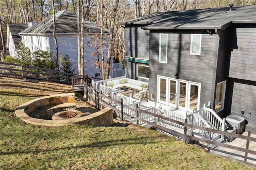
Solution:
[[[256,23],[256,5],[199,10],[158,12],[135,18],[121,25],[144,25],[146,30],[225,29],[232,23]]]

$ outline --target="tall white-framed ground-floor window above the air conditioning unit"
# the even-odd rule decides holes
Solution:
[[[226,80],[220,83],[217,83],[215,108],[214,108],[214,111],[216,113],[224,109],[225,93],[226,93]]]

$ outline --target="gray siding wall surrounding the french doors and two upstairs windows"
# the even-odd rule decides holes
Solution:
[[[167,63],[159,63],[159,33],[150,34],[150,93],[156,96],[157,75],[174,77],[178,73],[179,79],[201,83],[202,107],[211,101],[217,35],[202,34],[201,55],[190,55],[191,34],[200,33],[168,33]]]

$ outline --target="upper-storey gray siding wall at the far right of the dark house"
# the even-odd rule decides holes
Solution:
[[[229,77],[256,81],[256,28],[233,28]]]

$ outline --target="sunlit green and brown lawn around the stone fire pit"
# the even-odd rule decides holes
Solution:
[[[70,86],[1,79],[0,169],[254,169],[214,156],[204,149],[136,125],[120,127],[42,127],[26,124],[14,114],[26,101]],[[9,84],[9,85],[8,85]],[[46,89],[44,89],[44,87]],[[60,89],[62,88],[62,89]],[[38,91],[39,90],[39,91]]]

